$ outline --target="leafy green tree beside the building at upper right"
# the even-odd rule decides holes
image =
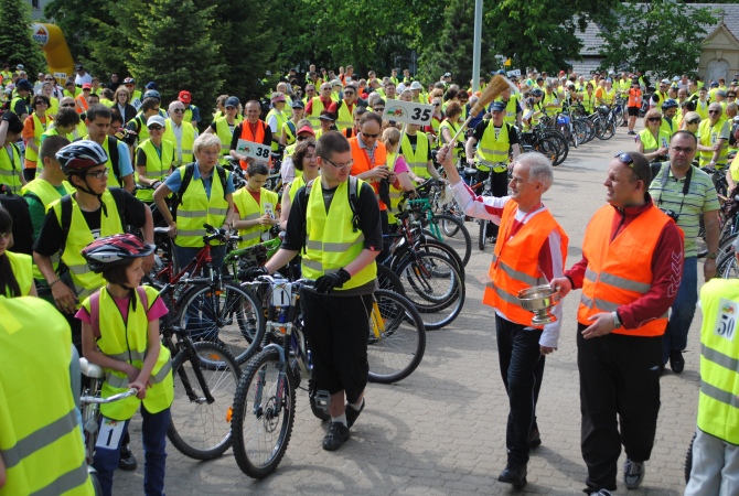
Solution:
[[[600,67],[652,71],[663,77],[696,67],[705,25],[716,22],[708,8],[686,12],[684,2],[653,0],[620,4],[604,22]]]

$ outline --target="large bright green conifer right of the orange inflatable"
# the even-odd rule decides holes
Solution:
[[[207,109],[223,85],[226,66],[219,46],[211,40],[213,7],[201,9],[193,0],[148,0],[133,14],[138,35],[129,61],[133,77],[143,86],[156,80],[164,105],[181,89]],[[183,29],[196,33],[183,42]],[[207,111],[203,112],[207,117]]]

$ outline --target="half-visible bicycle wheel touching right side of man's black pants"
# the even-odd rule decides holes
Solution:
[[[370,317],[367,362],[370,381],[393,384],[413,374],[426,352],[426,326],[421,315],[407,298],[393,291],[377,290],[373,312],[383,322],[383,331],[375,333]],[[374,305],[377,305],[376,308]]]

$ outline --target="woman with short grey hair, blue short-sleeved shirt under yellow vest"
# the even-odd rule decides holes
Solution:
[[[174,238],[174,256],[179,267],[184,267],[203,248],[204,224],[231,230],[234,215],[234,182],[231,173],[217,166],[221,139],[215,134],[201,134],[193,143],[195,162],[175,169],[167,181],[157,187],[154,202],[169,225]],[[180,197],[173,216],[164,198],[171,193]],[[224,245],[211,244],[213,268],[221,269]]]

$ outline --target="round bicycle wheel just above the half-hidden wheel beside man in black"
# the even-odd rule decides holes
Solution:
[[[446,277],[440,277],[446,273]],[[398,276],[428,331],[449,325],[464,306],[464,281],[449,258],[433,252],[417,254],[399,267]]]

